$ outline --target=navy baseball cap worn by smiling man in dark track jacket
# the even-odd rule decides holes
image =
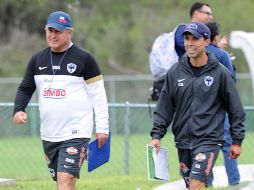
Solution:
[[[211,36],[209,28],[201,22],[192,22],[187,24],[187,26],[184,29],[183,35],[186,34],[187,32],[191,33],[197,39],[201,37],[208,39]]]

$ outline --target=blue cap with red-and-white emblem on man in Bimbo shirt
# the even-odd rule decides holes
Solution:
[[[60,32],[64,31],[66,28],[72,28],[72,20],[69,14],[56,11],[49,15],[46,28],[52,27]]]

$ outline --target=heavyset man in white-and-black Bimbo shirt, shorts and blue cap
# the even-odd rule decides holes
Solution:
[[[108,104],[103,78],[94,57],[72,42],[69,14],[56,11],[45,26],[47,48],[34,54],[18,87],[13,121],[26,124],[25,108],[36,90],[40,132],[58,190],[76,189],[76,179],[96,126],[98,146],[109,134]]]

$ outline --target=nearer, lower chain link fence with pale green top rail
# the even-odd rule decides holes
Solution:
[[[94,176],[147,175],[146,144],[151,141],[151,111],[154,104],[110,104],[111,156],[110,161],[92,173],[87,173],[87,162],[81,170],[81,178]],[[245,107],[246,139],[239,164],[254,164],[253,146],[254,107]],[[50,178],[41,140],[39,137],[38,104],[29,104],[28,122],[23,126],[12,123],[13,103],[0,104],[0,177],[16,179]],[[170,130],[163,138],[163,146],[169,148],[170,173],[178,171],[178,159]],[[217,165],[223,165],[220,157]],[[179,176],[178,176],[179,177]],[[174,180],[174,175],[173,179]]]

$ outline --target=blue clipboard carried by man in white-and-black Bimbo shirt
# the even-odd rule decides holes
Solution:
[[[110,138],[111,133],[109,132],[108,139],[101,148],[98,148],[98,139],[95,139],[88,144],[88,172],[93,171],[109,161]]]

